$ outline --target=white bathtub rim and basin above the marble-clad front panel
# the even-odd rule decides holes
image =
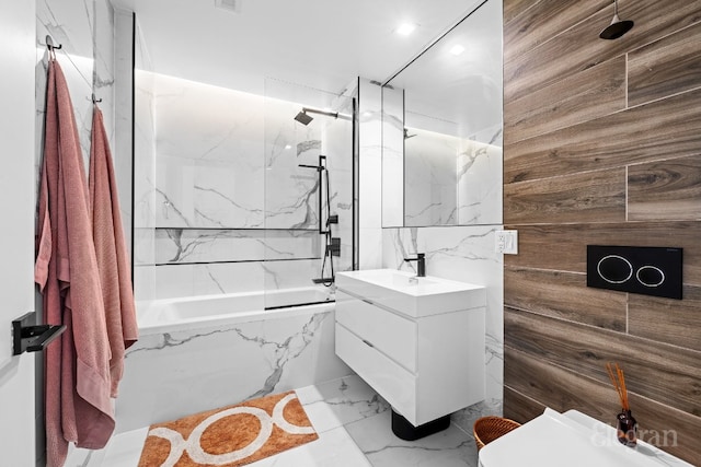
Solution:
[[[272,319],[278,315],[299,315],[333,306],[329,288],[297,288],[269,292],[243,292],[162,299],[137,303],[140,336]]]

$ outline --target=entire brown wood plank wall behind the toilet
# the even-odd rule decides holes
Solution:
[[[504,0],[506,417],[612,423],[701,465],[701,1]],[[586,287],[586,245],[683,247],[683,300]]]

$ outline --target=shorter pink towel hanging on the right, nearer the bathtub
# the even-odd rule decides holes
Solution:
[[[119,215],[117,182],[102,110],[93,106],[90,148],[90,207],[107,336],[112,350],[112,397],[124,373],[124,351],[138,338],[131,275]]]

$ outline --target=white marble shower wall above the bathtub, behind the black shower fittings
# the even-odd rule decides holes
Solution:
[[[319,154],[341,221],[332,226],[342,238],[335,268],[350,268],[350,120],[314,116],[306,127],[294,120],[302,104],[148,71],[137,78],[147,118],[137,119],[137,152],[154,154],[136,175],[139,297],[312,285],[324,247],[319,182],[298,165],[317,165]]]

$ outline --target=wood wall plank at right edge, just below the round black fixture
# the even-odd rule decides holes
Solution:
[[[630,106],[701,86],[701,23],[629,54]]]

